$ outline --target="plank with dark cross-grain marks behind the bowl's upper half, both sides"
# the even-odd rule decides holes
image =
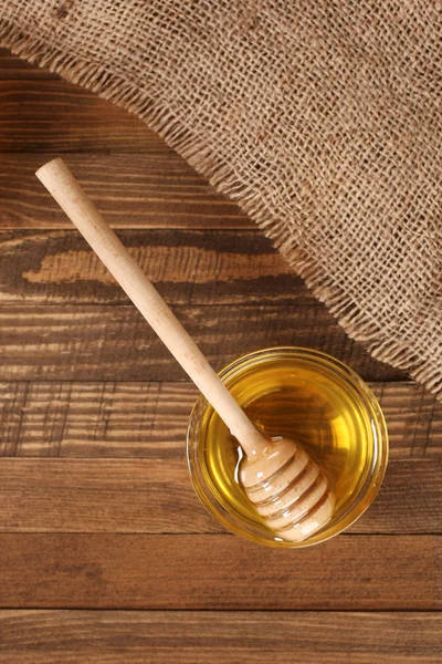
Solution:
[[[390,458],[441,458],[442,404],[415,383],[371,383]],[[0,456],[181,458],[191,383],[0,383]]]

